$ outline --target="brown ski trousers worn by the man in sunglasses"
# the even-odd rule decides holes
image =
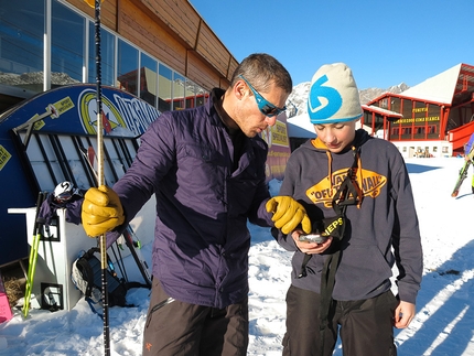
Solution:
[[[225,309],[170,299],[153,279],[143,356],[246,356],[248,300]]]

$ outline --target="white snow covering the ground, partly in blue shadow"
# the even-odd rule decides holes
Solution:
[[[463,159],[412,158],[406,162],[420,222],[424,270],[417,314],[408,328],[395,332],[398,355],[474,356],[472,170],[457,197],[451,197]],[[270,183],[270,192],[276,195],[280,182]],[[280,356],[292,255],[279,247],[268,228],[248,227],[252,236],[248,356]],[[141,251],[150,261],[151,242]],[[142,282],[130,255],[125,261],[129,281]],[[148,294],[148,289],[131,289],[127,302],[133,308],[109,309],[111,356],[141,355]],[[28,319],[18,308],[13,312],[12,320],[0,323],[0,356],[104,355],[103,321],[84,298],[71,311],[33,309]],[[340,344],[334,355],[342,356]]]

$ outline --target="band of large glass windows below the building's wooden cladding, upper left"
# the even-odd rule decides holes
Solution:
[[[51,18],[45,10],[50,4]],[[0,0],[0,85],[21,88],[28,97],[44,90],[47,75],[53,88],[82,82],[97,84],[94,19],[63,0]],[[50,25],[51,51],[43,39]],[[101,85],[127,90],[160,111],[196,107],[207,100],[208,91],[203,87],[104,25],[99,44]],[[51,63],[45,63],[45,52]]]

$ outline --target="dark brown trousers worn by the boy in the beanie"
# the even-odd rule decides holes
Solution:
[[[333,355],[341,336],[344,356],[396,356],[394,316],[398,300],[391,291],[360,301],[335,301],[320,354],[320,294],[290,287],[287,293],[287,333],[283,356]]]

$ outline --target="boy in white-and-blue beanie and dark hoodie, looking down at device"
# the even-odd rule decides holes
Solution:
[[[422,248],[407,168],[397,148],[370,137],[352,71],[314,74],[308,112],[316,138],[290,157],[281,196],[292,196],[314,228],[273,235],[292,258],[283,355],[396,355],[394,326],[416,314]],[[391,292],[397,263],[398,293]]]

